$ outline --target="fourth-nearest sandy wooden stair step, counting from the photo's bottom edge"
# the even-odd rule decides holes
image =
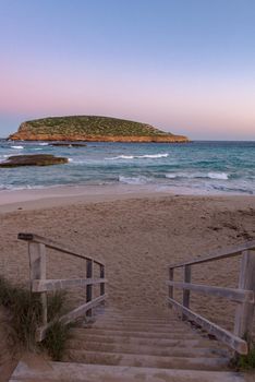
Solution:
[[[196,332],[187,332],[187,333],[183,333],[182,332],[158,332],[158,333],[151,333],[148,331],[141,331],[141,332],[136,332],[136,331],[123,331],[123,330],[108,330],[108,329],[73,329],[71,331],[71,333],[73,333],[73,335],[85,335],[86,334],[96,334],[96,335],[108,335],[108,336],[123,336],[123,337],[129,337],[129,336],[133,336],[133,337],[142,337],[142,338],[168,338],[168,339],[178,339],[178,338],[183,338],[185,337],[185,339],[196,339],[196,338],[201,338],[201,336],[196,333]]]

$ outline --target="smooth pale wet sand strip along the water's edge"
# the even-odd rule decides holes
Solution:
[[[204,192],[195,193],[191,189],[170,189],[158,186],[58,186],[41,189],[2,190],[0,191],[0,213],[17,210],[41,210],[71,204],[87,204],[126,199],[160,196],[185,196],[209,199],[254,199],[255,195]]]

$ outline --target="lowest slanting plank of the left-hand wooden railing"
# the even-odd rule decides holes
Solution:
[[[86,302],[82,306],[80,306],[78,308],[75,308],[74,310],[72,310],[71,312],[62,315],[59,321],[62,322],[63,324],[68,324],[72,321],[75,321],[76,319],[81,318],[82,315],[84,315],[86,313],[87,310],[97,307],[99,303],[101,303],[102,301],[105,301],[105,299],[107,298],[107,295],[104,296],[99,296],[97,298],[95,298],[94,300],[92,300],[90,302]],[[53,325],[53,323],[56,323],[57,320],[53,320],[51,322],[49,322],[47,325],[40,326],[36,330],[36,342],[41,342],[45,336],[46,333],[48,331],[48,329]]]

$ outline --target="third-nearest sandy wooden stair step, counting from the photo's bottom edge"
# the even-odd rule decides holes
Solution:
[[[117,335],[107,336],[107,335],[96,335],[96,334],[89,334],[87,331],[86,333],[83,333],[82,335],[74,337],[73,341],[81,341],[81,342],[100,342],[105,344],[122,344],[123,337]],[[149,345],[149,346],[157,346],[157,347],[222,347],[219,345],[218,342],[212,342],[210,339],[167,339],[167,338],[143,338],[137,336],[129,336],[125,337],[125,343],[132,344],[132,345]]]

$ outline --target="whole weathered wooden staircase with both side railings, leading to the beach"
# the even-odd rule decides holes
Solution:
[[[54,322],[48,322],[48,291],[85,287],[86,301],[59,319],[65,324],[84,318],[84,323],[72,330],[63,362],[29,362],[23,359],[10,382],[244,382],[241,373],[229,369],[229,361],[234,351],[248,353],[248,341],[244,339],[244,334],[247,339],[252,337],[254,241],[169,265],[167,300],[179,312],[178,317],[172,309],[160,313],[148,311],[142,305],[133,311],[112,307],[101,310],[107,297],[104,263],[37,235],[20,234],[19,238],[28,242],[32,293],[40,294],[41,299],[41,325],[37,329],[36,341],[42,341]],[[86,277],[47,279],[46,248],[83,259]],[[241,256],[238,288],[192,283],[192,266],[236,255]],[[173,279],[175,268],[183,268],[183,282]],[[175,288],[183,290],[182,303],[174,299]],[[191,310],[191,291],[236,302],[234,333]]]

